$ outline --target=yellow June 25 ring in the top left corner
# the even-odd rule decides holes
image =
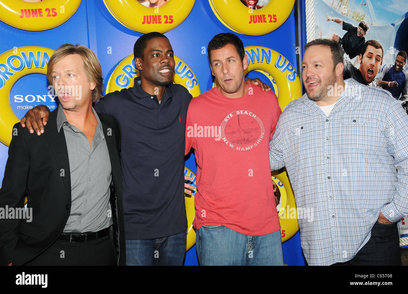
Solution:
[[[0,20],[17,29],[44,31],[69,20],[80,4],[81,0],[0,0]]]

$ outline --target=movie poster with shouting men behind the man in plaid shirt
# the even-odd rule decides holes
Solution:
[[[314,18],[316,39],[339,42],[345,51],[345,68],[348,64],[349,70],[361,78],[359,82],[389,91],[408,113],[406,4],[405,0],[315,0],[314,11],[306,10],[306,22]],[[365,61],[364,54],[370,50],[361,51],[364,42],[369,40],[377,41],[372,44],[381,44],[383,51],[379,53],[383,56],[379,60],[374,54],[370,57],[373,62]],[[405,235],[408,234],[406,219],[401,227],[401,234]]]

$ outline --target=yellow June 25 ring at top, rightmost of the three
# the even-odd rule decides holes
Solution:
[[[239,0],[208,0],[215,16],[229,29],[259,36],[279,28],[292,12],[295,0],[271,0],[264,8],[248,9]]]

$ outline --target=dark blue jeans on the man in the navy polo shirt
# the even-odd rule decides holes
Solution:
[[[126,265],[183,265],[187,231],[169,237],[126,240]]]

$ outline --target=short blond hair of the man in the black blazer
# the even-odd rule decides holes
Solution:
[[[64,44],[54,51],[47,65],[48,82],[52,85],[51,73],[55,63],[70,54],[78,54],[81,56],[82,62],[84,62],[86,78],[96,84],[95,88],[92,90],[92,102],[98,101],[103,91],[102,67],[95,53],[84,45]]]

